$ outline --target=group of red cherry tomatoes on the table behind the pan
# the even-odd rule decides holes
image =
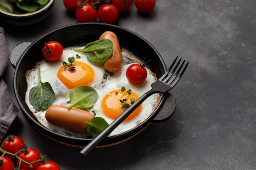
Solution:
[[[78,22],[114,23],[120,12],[127,11],[131,0],[63,0],[68,11],[75,11]],[[155,8],[155,0],[135,0],[135,7],[142,13],[149,13]]]

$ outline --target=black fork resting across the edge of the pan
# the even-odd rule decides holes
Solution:
[[[144,93],[139,99],[137,99],[134,104],[132,104],[127,110],[124,111],[117,119],[115,119],[106,129],[104,129],[97,137],[95,137],[87,146],[85,146],[80,154],[82,156],[87,155],[93,148],[95,148],[99,142],[101,142],[105,137],[107,137],[119,124],[126,119],[145,99],[155,93],[166,93],[170,91],[179,82],[180,78],[184,74],[188,62],[184,66],[185,60],[180,64],[180,59],[177,62],[178,57],[175,58],[171,66],[168,68],[166,73],[162,75],[156,82],[152,83],[151,90]],[[177,63],[176,63],[177,62]],[[184,67],[183,67],[184,66]],[[178,68],[178,70],[177,70]],[[176,71],[177,70],[177,71]],[[176,72],[175,72],[176,71]]]

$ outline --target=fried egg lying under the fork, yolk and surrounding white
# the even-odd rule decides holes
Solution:
[[[115,95],[115,93],[118,92],[120,95],[122,93],[120,89],[124,86],[126,90],[131,90],[131,96],[127,98],[135,98],[136,102],[138,97],[149,91],[151,84],[155,82],[155,76],[147,70],[148,77],[144,83],[140,85],[130,84],[126,78],[126,70],[131,64],[132,63],[123,65],[121,71],[115,73],[103,87],[96,88],[99,99],[90,112],[94,113],[97,117],[103,117],[108,124],[124,112],[124,110],[121,109],[123,104],[119,102],[119,98],[112,97],[109,94]],[[109,136],[126,132],[146,120],[153,112],[156,101],[157,95],[148,97],[124,122],[113,130]]]

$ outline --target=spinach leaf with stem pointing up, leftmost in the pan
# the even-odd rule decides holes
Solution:
[[[46,110],[54,102],[55,94],[48,82],[41,82],[40,68],[37,73],[38,85],[29,91],[29,102],[36,110]]]

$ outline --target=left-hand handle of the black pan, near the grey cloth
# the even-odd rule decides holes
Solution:
[[[13,68],[16,68],[16,65],[18,61],[20,60],[21,55],[24,53],[24,51],[32,44],[32,42],[21,42],[20,44],[13,47],[9,60],[11,62],[11,66]]]

